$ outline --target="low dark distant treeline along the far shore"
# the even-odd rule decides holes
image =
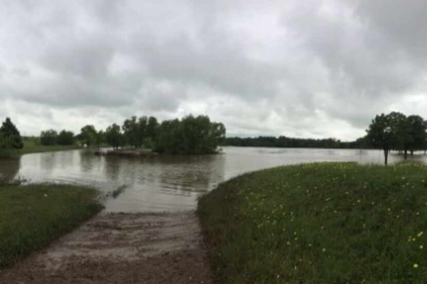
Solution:
[[[254,138],[227,137],[224,145],[278,148],[366,148],[368,147],[368,141],[365,137],[351,142],[343,142],[334,138],[310,139],[286,136],[259,136]]]

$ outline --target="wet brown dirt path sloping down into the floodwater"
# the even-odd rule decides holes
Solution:
[[[193,212],[100,214],[11,269],[0,283],[211,283]]]

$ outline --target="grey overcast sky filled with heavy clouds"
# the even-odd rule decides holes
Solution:
[[[208,115],[228,136],[352,140],[427,119],[427,2],[34,1],[0,9],[0,119],[23,135]]]

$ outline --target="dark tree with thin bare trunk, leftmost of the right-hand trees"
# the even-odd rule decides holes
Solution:
[[[386,165],[388,161],[388,152],[395,144],[395,136],[392,132],[392,125],[390,122],[390,116],[381,113],[381,115],[375,116],[366,130],[367,139],[370,144],[384,151],[384,163]]]

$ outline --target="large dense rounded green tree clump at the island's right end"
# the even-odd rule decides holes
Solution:
[[[225,139],[222,123],[207,116],[166,120],[158,127],[154,150],[167,154],[212,154]]]

